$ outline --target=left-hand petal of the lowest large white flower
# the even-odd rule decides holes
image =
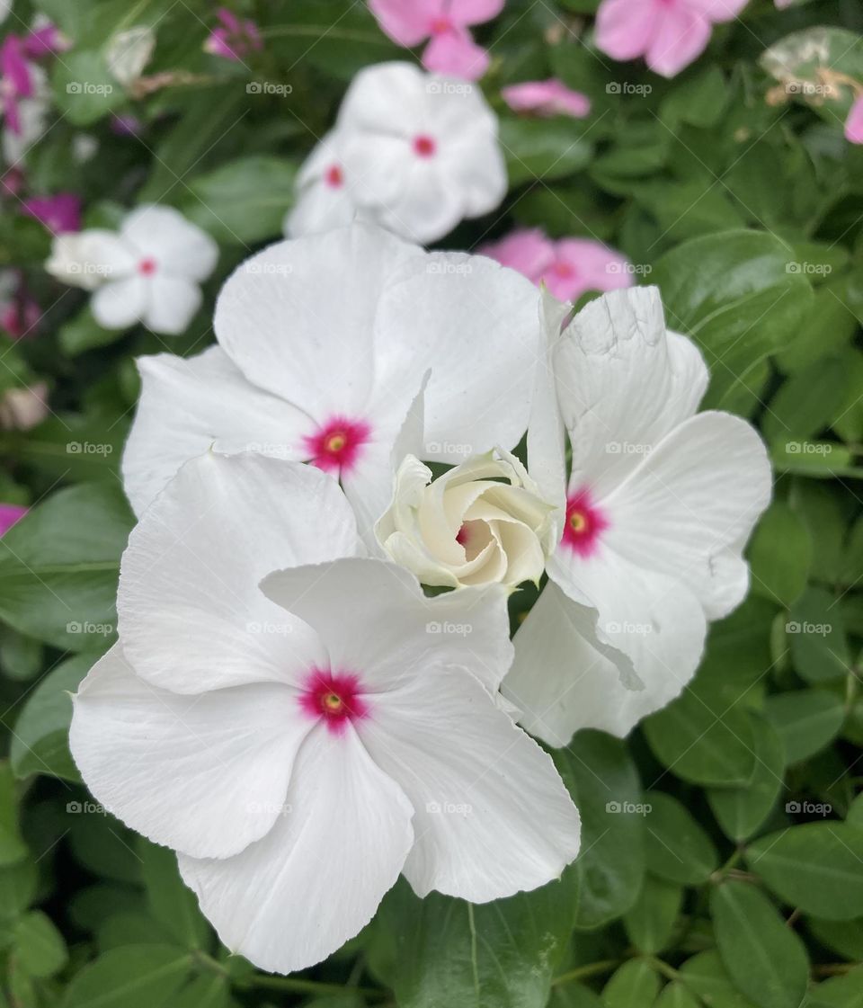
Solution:
[[[135,675],[119,644],[75,698],[70,745],[94,796],[157,844],[230,857],[282,812],[313,727],[275,683],[178,697]]]

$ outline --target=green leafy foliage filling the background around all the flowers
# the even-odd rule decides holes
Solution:
[[[280,237],[348,82],[412,58],[365,2],[230,6],[263,39],[239,61],[203,50],[204,0],[15,0],[0,28],[39,11],[71,43],[26,154],[33,193],[79,193],[91,227],[169,204],[220,246],[187,333],[109,332],[3,198],[0,266],[46,312],[34,338],[2,339],[0,395],[44,382],[51,412],[0,431],[0,501],[31,506],[0,539],[0,1008],[859,1008],[863,151],[842,126],[863,16],[846,0],[751,0],[670,81],[597,51],[598,0],[508,0],[476,29],[509,192],[442,246],[539,227],[621,250],[701,348],[705,407],[754,422],[776,472],[749,597],[711,627],[696,677],[628,739],[584,732],[554,752],[583,818],[563,877],[477,906],[402,879],[345,949],[275,977],[220,944],[170,852],[87,794],[70,695],[116,633],[132,360],[212,342],[222,279]],[[107,51],[141,25],[156,45],[126,87]],[[589,97],[587,118],[505,106],[502,87],[551,76]]]

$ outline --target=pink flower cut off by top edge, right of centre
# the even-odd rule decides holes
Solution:
[[[644,56],[674,77],[704,52],[714,24],[731,21],[748,0],[603,0],[596,43],[613,59]]]

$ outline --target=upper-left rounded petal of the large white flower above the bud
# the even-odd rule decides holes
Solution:
[[[378,298],[404,263],[421,255],[361,224],[279,242],[228,279],[216,304],[216,335],[249,381],[319,423],[334,415],[373,420]],[[403,404],[398,390],[390,390],[402,416],[418,386],[417,378]]]

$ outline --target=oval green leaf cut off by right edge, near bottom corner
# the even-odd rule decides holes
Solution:
[[[863,916],[863,830],[807,823],[749,845],[746,861],[786,903],[827,920]]]

